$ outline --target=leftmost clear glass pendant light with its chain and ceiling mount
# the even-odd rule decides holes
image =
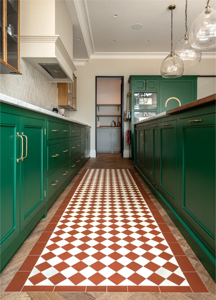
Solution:
[[[177,78],[182,76],[184,71],[184,64],[180,60],[179,66],[174,65],[173,57],[176,54],[173,54],[172,51],[172,11],[176,8],[176,6],[172,4],[168,8],[171,10],[171,53],[162,62],[160,73],[164,78]]]

